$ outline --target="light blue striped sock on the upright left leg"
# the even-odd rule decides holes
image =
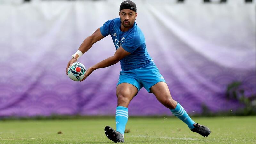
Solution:
[[[116,107],[116,131],[120,132],[123,137],[128,117],[128,108],[123,106]]]

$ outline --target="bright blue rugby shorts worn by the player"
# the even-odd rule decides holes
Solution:
[[[165,82],[165,80],[158,68],[154,65],[147,68],[120,71],[117,85],[129,83],[137,87],[138,91],[144,87],[149,93],[152,93],[150,88],[158,82]]]

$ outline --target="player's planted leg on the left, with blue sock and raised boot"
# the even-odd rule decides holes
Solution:
[[[118,84],[116,88],[116,131],[109,126],[105,127],[106,136],[114,142],[124,142],[124,130],[128,121],[128,105],[138,93],[137,87],[129,83]]]

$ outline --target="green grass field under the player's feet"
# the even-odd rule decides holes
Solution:
[[[191,132],[178,118],[129,118],[125,143],[256,143],[256,117],[193,118],[208,137]],[[104,134],[115,119],[0,121],[0,143],[113,143]],[[57,134],[61,131],[62,134]]]

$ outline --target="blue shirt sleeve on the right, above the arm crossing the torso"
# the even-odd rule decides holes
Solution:
[[[122,48],[124,48],[127,52],[134,52],[140,45],[142,44],[140,36],[132,35],[126,37],[124,44],[122,44]]]

